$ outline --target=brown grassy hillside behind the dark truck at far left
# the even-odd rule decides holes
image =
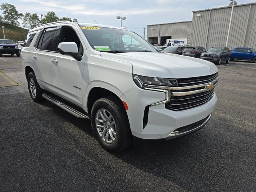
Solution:
[[[12,39],[14,42],[24,41],[28,34],[27,29],[0,22],[0,39],[4,38],[4,34],[1,26],[4,26],[5,38]]]

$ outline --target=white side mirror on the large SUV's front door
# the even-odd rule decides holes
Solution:
[[[75,42],[62,42],[58,45],[58,50],[62,55],[71,55],[76,60],[82,60],[82,57],[78,55],[78,48]]]

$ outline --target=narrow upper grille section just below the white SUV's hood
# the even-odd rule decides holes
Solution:
[[[212,82],[215,78],[218,77],[218,73],[207,75],[207,76],[200,76],[200,77],[191,77],[191,78],[181,78],[177,79],[178,86],[191,86],[191,85],[200,85],[204,83]]]

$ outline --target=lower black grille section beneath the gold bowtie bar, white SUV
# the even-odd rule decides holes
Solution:
[[[165,108],[174,111],[193,108],[205,104],[213,95],[214,89],[186,96],[171,96],[170,102],[165,103]]]

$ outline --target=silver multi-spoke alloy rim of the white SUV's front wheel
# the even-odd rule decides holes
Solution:
[[[99,109],[95,116],[95,123],[100,138],[110,144],[116,139],[116,122],[106,109]]]

